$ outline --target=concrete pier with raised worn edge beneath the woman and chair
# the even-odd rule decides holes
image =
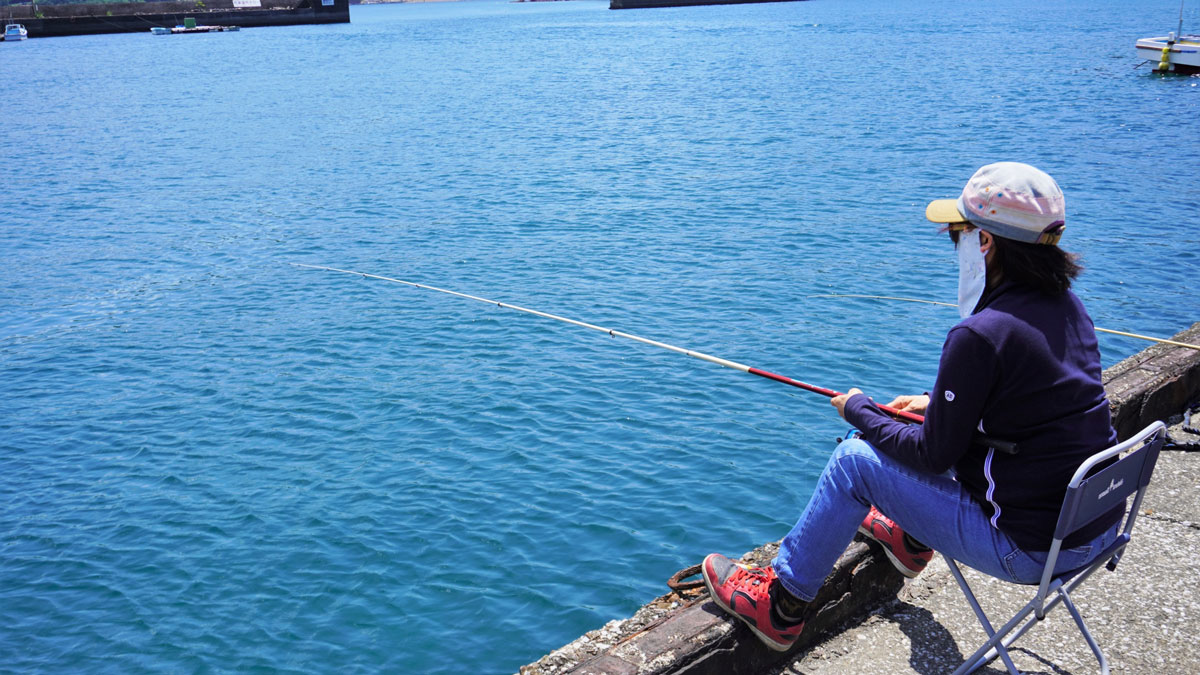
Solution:
[[[1200,323],[1172,338],[1200,344]],[[1200,663],[1200,351],[1154,345],[1104,371],[1114,426],[1124,438],[1156,419],[1171,444],[1116,572],[1098,572],[1075,598],[1114,673],[1189,673]],[[1189,407],[1195,417],[1188,419]],[[778,544],[743,560],[763,565]],[[992,619],[1032,597],[1025,586],[966,577]],[[768,650],[708,602],[703,589],[671,592],[521,669],[521,675],[948,673],[985,639],[941,556],[906,581],[875,544],[847,548],[817,598],[821,609],[788,652]],[[1007,619],[1007,616],[1004,616]],[[1014,651],[1024,673],[1097,670],[1066,611],[1056,610]],[[979,673],[1002,673],[994,663]]]

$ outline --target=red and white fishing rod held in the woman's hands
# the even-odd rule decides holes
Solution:
[[[834,396],[842,395],[841,392],[835,392],[833,389],[826,389],[824,387],[817,387],[815,384],[809,384],[806,382],[800,382],[799,380],[792,380],[791,377],[785,377],[782,375],[776,375],[774,372],[770,372],[770,371],[767,371],[767,370],[762,370],[760,368],[751,368],[749,365],[745,365],[745,364],[742,364],[742,363],[738,363],[738,362],[732,362],[732,360],[728,360],[728,359],[722,359],[720,357],[714,357],[714,356],[710,356],[710,354],[706,354],[703,352],[697,352],[696,350],[686,350],[684,347],[677,347],[674,345],[668,345],[666,342],[660,342],[658,340],[650,340],[649,338],[642,338],[640,335],[634,335],[632,333],[624,333],[622,330],[614,330],[612,328],[604,328],[602,325],[596,325],[594,323],[587,323],[584,321],[568,318],[565,316],[558,316],[558,315],[553,315],[553,313],[548,313],[548,312],[544,312],[544,311],[539,311],[539,310],[530,310],[528,307],[522,307],[522,306],[518,306],[518,305],[511,305],[509,303],[502,303],[499,300],[492,300],[492,299],[488,299],[488,298],[480,298],[479,295],[470,295],[468,293],[460,293],[457,291],[450,291],[450,289],[446,289],[446,288],[438,288],[437,286],[428,286],[426,283],[418,283],[415,281],[404,281],[402,279],[392,279],[390,276],[382,276],[382,275],[378,275],[378,274],[368,274],[368,273],[365,273],[365,271],[356,271],[356,270],[353,270],[353,269],[340,269],[340,268],[336,268],[336,267],[313,265],[313,264],[306,264],[306,263],[289,263],[289,264],[293,264],[295,267],[308,268],[308,269],[319,269],[319,270],[325,270],[325,271],[338,271],[338,273],[342,273],[342,274],[353,274],[353,275],[362,276],[362,277],[366,277],[366,279],[378,279],[380,281],[390,281],[392,283],[402,283],[404,286],[412,286],[413,288],[422,288],[425,291],[434,291],[437,293],[445,293],[448,295],[455,295],[457,298],[466,298],[468,300],[476,300],[476,301],[480,301],[480,303],[487,303],[488,305],[496,305],[498,307],[504,307],[504,309],[509,309],[509,310],[516,310],[518,312],[530,313],[530,315],[540,316],[540,317],[544,317],[544,318],[552,318],[554,321],[560,321],[563,323],[570,323],[571,325],[578,325],[580,328],[588,328],[588,329],[592,329],[592,330],[599,330],[600,333],[608,334],[608,336],[611,336],[611,338],[625,338],[626,340],[632,340],[635,342],[641,342],[643,345],[650,345],[652,347],[659,347],[659,348],[662,348],[662,350],[676,352],[678,354],[684,354],[684,356],[688,356],[688,357],[692,357],[692,358],[697,358],[697,359],[701,359],[701,360],[706,360],[708,363],[715,363],[716,365],[722,365],[722,366],[732,369],[732,370],[738,370],[738,371],[742,371],[742,372],[749,372],[750,375],[757,375],[758,377],[764,377],[767,380],[773,380],[775,382],[781,382],[784,384],[790,384],[792,387],[797,387],[799,389],[804,389],[805,392],[812,392],[815,394],[821,394],[821,395],[828,396],[830,399],[834,398]],[[887,414],[889,414],[893,418],[899,419],[899,420],[911,422],[911,423],[914,423],[914,424],[920,424],[920,423],[923,423],[925,420],[924,416],[920,416],[920,414],[917,414],[917,413],[902,411],[902,410],[894,408],[892,406],[884,406],[884,405],[881,405],[881,404],[875,404],[875,406],[877,408],[880,408],[881,411],[883,411],[884,413],[887,413]],[[985,446],[989,446],[989,447],[995,447],[996,449],[998,449],[1001,452],[1004,452],[1004,453],[1009,453],[1009,454],[1015,454],[1016,453],[1016,444],[1012,443],[1009,441],[1002,441],[1002,440],[991,438],[991,437],[988,437],[988,436],[976,436],[974,440],[976,440],[976,442],[978,442],[980,444],[985,444]]]

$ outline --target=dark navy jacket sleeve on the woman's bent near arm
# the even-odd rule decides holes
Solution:
[[[965,325],[946,336],[937,382],[924,424],[905,424],[884,414],[865,395],[846,401],[846,419],[878,452],[931,473],[943,473],[967,452],[982,430],[983,411],[996,380],[996,350]]]

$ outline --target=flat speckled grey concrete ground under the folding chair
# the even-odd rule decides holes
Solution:
[[[1112,673],[1200,671],[1200,454],[1165,452],[1142,503],[1133,542],[1115,572],[1100,571],[1073,598]],[[964,569],[995,623],[1033,590]],[[949,673],[985,639],[941,556],[898,598],[776,674]],[[1022,673],[1097,673],[1070,615],[1057,608],[1013,650]],[[995,661],[977,673],[1006,673]]]

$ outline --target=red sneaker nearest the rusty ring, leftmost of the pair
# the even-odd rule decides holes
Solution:
[[[701,566],[709,595],[725,611],[737,616],[775,651],[787,651],[796,644],[804,622],[782,623],[770,611],[770,586],[778,584],[770,567],[746,567],[710,554]]]

